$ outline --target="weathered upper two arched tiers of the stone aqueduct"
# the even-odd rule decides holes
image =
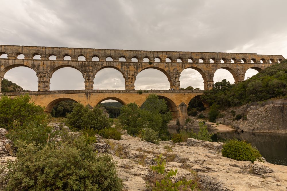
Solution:
[[[0,81],[11,68],[27,66],[32,68],[38,76],[39,91],[48,91],[50,89],[52,74],[63,67],[72,67],[79,70],[84,77],[86,90],[94,88],[94,77],[103,68],[115,68],[121,72],[125,79],[126,90],[133,90],[137,74],[148,68],[162,71],[170,82],[170,88],[177,90],[180,88],[179,77],[181,72],[186,68],[192,68],[202,75],[204,89],[207,90],[212,88],[214,73],[219,68],[230,71],[235,83],[237,83],[244,81],[245,72],[249,68],[259,71],[278,61],[285,60],[281,55],[247,53],[108,50],[0,45],[0,56],[2,54],[7,54],[7,58],[0,59]],[[20,54],[24,54],[25,59],[17,59],[17,56]],[[34,60],[35,55],[40,55],[41,60]],[[57,59],[49,60],[50,56],[56,56]],[[71,60],[63,60],[65,56],[70,56]],[[79,61],[79,56],[84,56],[86,61]],[[106,61],[108,57],[113,59],[113,61]],[[99,61],[92,61],[94,58],[98,58]],[[120,62],[119,58],[124,58],[126,61]],[[138,62],[131,62],[132,58],[136,58]],[[146,62],[143,61],[144,58],[146,58]],[[166,62],[166,58],[169,58],[171,62]],[[160,62],[155,62],[155,59],[159,59]],[[199,62],[199,59],[203,62]],[[210,59],[212,59],[213,63],[210,62]],[[231,60],[234,63],[231,63]]]

